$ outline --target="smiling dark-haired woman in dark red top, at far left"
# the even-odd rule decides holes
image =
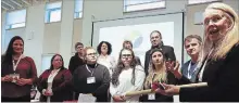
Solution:
[[[37,79],[34,60],[23,55],[24,40],[11,39],[1,62],[2,102],[30,102],[30,88]]]

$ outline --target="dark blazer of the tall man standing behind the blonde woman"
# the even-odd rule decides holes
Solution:
[[[146,60],[144,60],[144,72],[146,72],[146,75],[148,76],[148,69],[149,69],[149,63],[150,63],[150,53],[152,51],[152,49],[155,49],[155,48],[151,48],[150,50],[148,50],[146,52]],[[174,48],[173,47],[169,47],[169,46],[159,46],[158,49],[161,49],[166,57],[166,60],[171,59],[172,61],[176,61],[176,57],[175,57],[175,53],[174,53]]]

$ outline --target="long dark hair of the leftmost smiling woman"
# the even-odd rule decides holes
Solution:
[[[22,40],[23,41],[23,50],[24,50],[24,40],[22,37],[20,36],[14,36],[10,42],[9,42],[9,46],[8,46],[8,49],[4,53],[4,59],[3,59],[3,63],[8,63],[10,65],[12,65],[12,55],[15,53],[14,50],[13,50],[13,42],[15,40]],[[23,53],[23,52],[22,52]]]

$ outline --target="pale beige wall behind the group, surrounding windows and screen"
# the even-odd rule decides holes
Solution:
[[[238,0],[223,0],[237,12]],[[123,0],[85,0],[83,18],[74,20],[74,0],[63,0],[62,21],[45,24],[45,4],[33,5],[27,9],[26,27],[4,30],[5,13],[2,12],[2,52],[12,36],[21,35],[25,40],[25,54],[34,57],[37,68],[41,68],[41,55],[61,53],[68,66],[68,60],[74,50],[74,44],[81,41],[90,46],[92,22],[111,18],[122,18],[152,14],[165,14],[186,11],[185,37],[190,34],[201,34],[202,26],[193,24],[193,13],[203,11],[206,4],[186,5],[187,0],[166,0],[166,8],[160,10],[123,13]],[[185,59],[187,54],[185,53]],[[38,70],[40,72],[40,70]],[[38,73],[39,75],[39,73]]]

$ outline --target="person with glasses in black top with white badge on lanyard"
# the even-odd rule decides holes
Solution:
[[[86,48],[85,53],[86,64],[77,67],[73,74],[74,91],[77,93],[90,94],[97,98],[97,102],[108,102],[110,73],[105,66],[97,63],[98,55],[93,48]]]

